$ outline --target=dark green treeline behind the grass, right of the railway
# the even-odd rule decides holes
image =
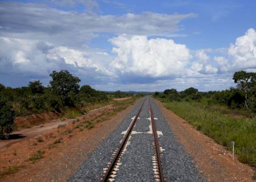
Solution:
[[[233,75],[236,88],[222,91],[199,92],[196,88],[188,88],[182,92],[167,89],[163,93],[155,92],[154,96],[169,101],[201,101],[208,104],[223,104],[232,109],[245,109],[256,112],[256,73],[240,71]]]

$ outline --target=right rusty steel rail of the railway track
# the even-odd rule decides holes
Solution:
[[[153,133],[154,139],[155,139],[156,160],[158,162],[158,172],[159,172],[159,178],[160,178],[159,181],[164,182],[162,163],[161,163],[161,159],[160,159],[160,150],[159,150],[160,146],[159,146],[158,133],[157,133],[156,126],[155,126],[154,113],[152,110],[150,100],[149,100],[149,104],[150,104],[150,117],[151,117],[152,133]]]

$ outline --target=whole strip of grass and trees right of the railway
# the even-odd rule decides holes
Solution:
[[[167,89],[155,98],[203,134],[232,151],[242,163],[256,167],[256,73],[236,72],[237,88],[218,92]]]

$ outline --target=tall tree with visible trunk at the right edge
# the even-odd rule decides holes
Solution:
[[[239,71],[234,73],[233,80],[237,84],[237,87],[245,92],[245,107],[249,109],[248,94],[251,89],[255,88],[256,73]]]

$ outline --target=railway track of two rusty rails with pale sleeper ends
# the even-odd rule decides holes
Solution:
[[[107,168],[104,169],[104,173],[101,177],[101,182],[107,182],[107,181],[114,181],[114,177],[116,176],[116,173],[118,171],[118,166],[120,163],[120,160],[122,158],[123,152],[126,150],[127,143],[129,142],[129,138],[131,136],[131,132],[133,131],[133,128],[137,122],[137,119],[139,117],[139,114],[141,113],[141,110],[144,106],[144,102],[147,100],[147,98],[143,101],[142,106],[138,110],[138,113],[135,115],[133,121],[131,122],[129,129],[127,130],[125,136],[123,137],[121,144],[115,150],[113,158]],[[158,139],[158,133],[155,125],[155,118],[154,118],[154,112],[151,106],[150,99],[148,98],[149,102],[149,110],[150,110],[150,118],[151,118],[151,127],[152,127],[152,135],[153,135],[153,146],[154,146],[154,156],[152,157],[152,162],[153,162],[153,170],[152,172],[155,173],[155,179],[156,181],[163,182],[164,177],[163,177],[163,170],[162,170],[162,163],[160,159],[160,144],[159,144],[159,139]]]

